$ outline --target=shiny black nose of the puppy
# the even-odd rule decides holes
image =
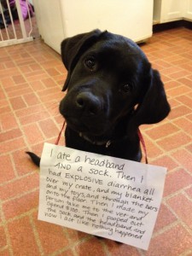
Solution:
[[[98,97],[87,91],[79,93],[76,104],[86,114],[96,115],[101,110],[101,102]]]

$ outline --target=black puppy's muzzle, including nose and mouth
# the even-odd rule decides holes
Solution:
[[[107,102],[90,90],[72,90],[62,99],[60,113],[73,131],[101,136],[108,129]]]

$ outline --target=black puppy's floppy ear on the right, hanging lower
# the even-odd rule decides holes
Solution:
[[[160,73],[150,68],[148,78],[148,89],[142,101],[134,113],[136,125],[155,124],[165,119],[171,108],[166,99],[164,84],[160,79]]]

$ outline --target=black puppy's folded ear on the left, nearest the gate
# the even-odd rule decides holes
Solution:
[[[73,68],[79,61],[79,57],[84,53],[86,49],[94,44],[97,38],[101,35],[101,31],[96,29],[92,32],[79,34],[72,38],[67,38],[61,43],[61,59],[65,67],[67,68],[67,79],[63,86],[62,91],[67,90],[67,86],[73,72]]]

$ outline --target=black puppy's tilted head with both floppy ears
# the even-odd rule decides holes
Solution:
[[[124,119],[127,130],[154,124],[170,111],[160,74],[128,38],[93,32],[61,43],[67,67],[60,112],[67,125],[86,136],[104,136]]]

